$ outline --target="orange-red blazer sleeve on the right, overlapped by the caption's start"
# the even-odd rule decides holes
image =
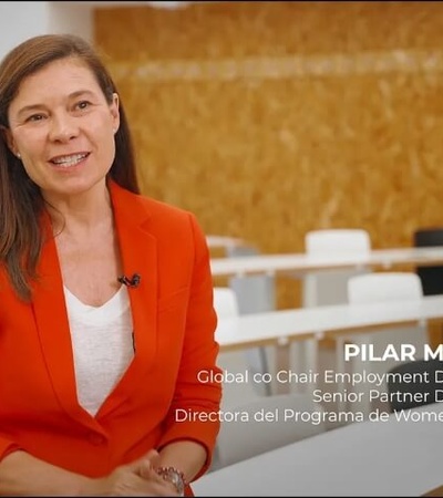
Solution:
[[[207,460],[197,479],[210,465],[219,432],[220,382],[200,382],[199,372],[214,378],[222,370],[216,366],[218,343],[215,340],[217,317],[213,305],[213,277],[206,238],[194,215],[189,214],[194,240],[188,309],[184,333],[183,354],[174,400],[167,416],[167,430],[159,447],[177,439],[193,439],[206,447]],[[220,375],[215,375],[218,378]],[[181,414],[181,415],[177,415]]]

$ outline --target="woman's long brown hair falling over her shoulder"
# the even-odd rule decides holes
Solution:
[[[49,63],[76,58],[94,74],[109,104],[115,84],[99,53],[82,38],[43,34],[12,49],[0,63],[0,127],[9,128],[8,111],[21,82]],[[123,188],[138,194],[134,149],[127,118],[120,100],[120,127],[115,134],[115,157],[109,176]],[[30,281],[37,278],[44,235],[41,215],[45,204],[40,188],[29,178],[22,163],[9,149],[4,129],[0,133],[0,266],[6,267],[17,294],[31,299]]]

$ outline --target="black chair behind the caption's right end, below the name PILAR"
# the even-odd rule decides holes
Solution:
[[[441,371],[441,373],[437,371]],[[427,375],[425,375],[426,372]],[[443,394],[443,384],[436,382],[439,380],[443,381],[443,361],[411,361],[395,365],[389,373],[399,374],[388,375],[387,387],[391,412],[430,405],[435,403],[439,397],[440,400],[443,398],[442,395],[437,396],[436,393],[437,390],[441,390],[441,394]],[[412,376],[406,374],[412,374]],[[393,395],[394,393],[399,393],[399,395],[395,396]],[[414,394],[419,393],[421,396],[415,396],[414,400]]]

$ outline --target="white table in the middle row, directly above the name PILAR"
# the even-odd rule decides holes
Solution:
[[[222,318],[217,324],[216,339],[222,351],[276,346],[277,371],[290,369],[291,342],[307,341],[306,363],[299,369],[318,371],[317,342],[324,334],[423,324],[442,319],[443,295],[425,295],[409,302],[320,305]],[[278,392],[287,392],[288,388],[287,384],[278,384]],[[310,388],[316,386],[311,385]]]

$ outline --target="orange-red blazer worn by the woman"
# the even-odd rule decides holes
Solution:
[[[99,477],[185,438],[206,446],[208,465],[219,422],[175,421],[176,408],[219,409],[220,385],[197,380],[200,370],[220,372],[205,237],[189,212],[110,187],[123,272],[141,276],[128,289],[135,357],[91,416],[76,398],[53,238],[43,247],[32,303],[16,297],[0,268],[0,458],[22,448]]]

